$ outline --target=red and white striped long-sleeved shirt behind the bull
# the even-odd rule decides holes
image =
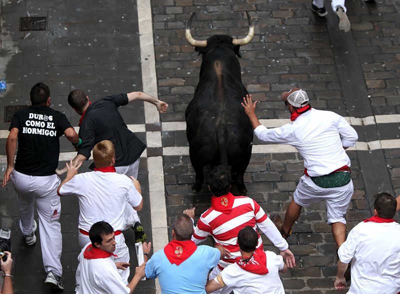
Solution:
[[[220,199],[218,202],[222,202],[227,195],[216,198]],[[237,234],[245,226],[251,226],[254,230],[256,230],[258,226],[268,239],[281,251],[289,247],[286,240],[281,236],[278,229],[257,202],[246,196],[231,195],[231,197],[231,199],[233,199],[233,205],[230,210],[221,212],[216,210],[216,207],[211,206],[201,214],[191,238],[196,244],[199,244],[204,241],[208,235],[211,235],[216,244],[230,251],[232,255],[231,258],[220,260],[218,264],[219,268],[223,269],[230,263],[233,263],[235,257],[240,256]],[[261,236],[258,234],[257,248],[261,246],[262,240]]]

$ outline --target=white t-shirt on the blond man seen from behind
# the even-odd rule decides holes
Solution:
[[[132,180],[115,172],[77,174],[61,186],[59,193],[78,197],[78,228],[85,231],[101,220],[108,222],[114,230],[123,230],[126,202],[136,207],[142,199]]]

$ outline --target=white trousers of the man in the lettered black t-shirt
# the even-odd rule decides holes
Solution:
[[[39,234],[44,270],[54,270],[61,276],[62,250],[61,225],[58,222],[61,202],[57,195],[60,183],[56,174],[51,176],[29,176],[13,171],[11,180],[16,191],[20,223],[23,235],[33,232],[33,202],[39,215]]]

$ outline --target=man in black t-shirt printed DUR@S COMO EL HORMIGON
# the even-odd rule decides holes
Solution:
[[[34,231],[37,224],[33,219],[33,202],[39,215],[40,245],[45,283],[63,289],[60,262],[62,237],[58,222],[61,203],[57,196],[60,183],[55,169],[59,157],[59,137],[78,144],[79,137],[64,114],[49,107],[50,90],[38,83],[30,90],[31,106],[14,114],[6,142],[7,169],[2,181],[4,187],[12,180],[17,194],[19,227],[27,245],[36,242]],[[18,151],[14,165],[16,140]]]

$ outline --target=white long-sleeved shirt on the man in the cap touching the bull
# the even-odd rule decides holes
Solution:
[[[280,128],[267,129],[260,125],[254,134],[261,141],[295,147],[304,158],[304,167],[311,177],[350,166],[343,147],[352,147],[358,140],[357,133],[343,117],[314,108]]]

